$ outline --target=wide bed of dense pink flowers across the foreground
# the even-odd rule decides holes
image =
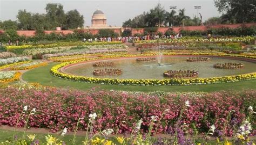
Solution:
[[[11,95],[10,95],[11,94]],[[170,133],[177,123],[180,111],[186,100],[190,106],[184,110],[180,124],[187,125],[187,131],[206,133],[211,125],[218,131],[225,126],[225,135],[232,135],[234,126],[245,120],[245,110],[256,105],[256,91],[214,92],[214,93],[166,93],[161,96],[142,92],[64,90],[57,88],[14,87],[0,88],[0,124],[24,127],[28,113],[23,113],[23,106],[28,111],[36,108],[36,113],[29,117],[28,126],[49,128],[52,132],[62,131],[64,127],[72,131],[86,130],[89,114],[97,113],[93,131],[99,132],[112,128],[114,132],[129,133],[142,119],[141,130],[148,131],[152,115],[160,118],[157,133]],[[218,100],[218,101],[216,101]],[[184,105],[183,105],[184,104]],[[167,111],[166,111],[167,110]],[[165,113],[163,113],[166,111]],[[230,121],[228,116],[230,112]],[[252,122],[255,121],[252,118]],[[156,126],[153,126],[152,132]]]

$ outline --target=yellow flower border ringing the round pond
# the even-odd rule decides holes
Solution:
[[[169,55],[175,55],[173,53],[167,53]],[[199,54],[199,53],[198,53]],[[195,55],[198,55],[195,54]],[[115,85],[197,85],[197,84],[213,84],[213,83],[226,83],[226,82],[237,82],[244,81],[248,79],[255,79],[256,72],[251,74],[243,75],[233,75],[233,76],[224,76],[224,77],[212,77],[212,78],[191,78],[191,79],[114,79],[114,78],[95,78],[95,77],[84,77],[84,76],[74,76],[65,73],[60,73],[58,70],[69,64],[74,64],[82,61],[98,60],[98,59],[110,59],[110,58],[119,58],[119,57],[134,57],[134,56],[152,56],[155,54],[139,54],[139,55],[110,55],[103,56],[92,59],[77,60],[71,62],[64,62],[57,64],[51,68],[51,73],[54,76],[69,79],[72,81],[78,82],[87,82],[87,83],[100,83],[100,84],[115,84]],[[191,54],[190,54],[191,55]],[[203,54],[206,55],[206,54]],[[211,54],[210,54],[211,55]]]

